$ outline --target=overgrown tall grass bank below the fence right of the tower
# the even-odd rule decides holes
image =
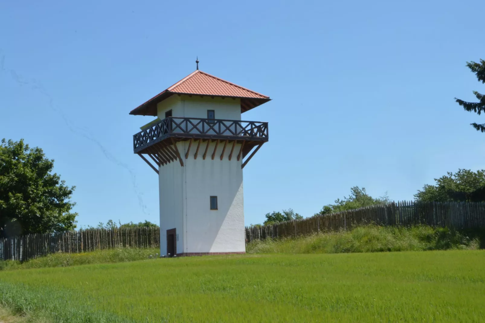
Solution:
[[[299,238],[253,241],[247,253],[348,253],[479,249],[480,240],[449,228],[430,226],[359,226],[350,231],[328,232]]]

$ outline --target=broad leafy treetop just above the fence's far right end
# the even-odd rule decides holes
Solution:
[[[423,189],[414,194],[420,201],[452,202],[452,201],[485,201],[485,170],[472,172],[469,169],[459,169],[456,173],[448,172],[441,178],[435,178],[436,185],[424,185]]]

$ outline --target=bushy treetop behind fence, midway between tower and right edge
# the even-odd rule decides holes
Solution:
[[[359,188],[358,186],[354,186],[350,189],[350,191],[351,194],[349,196],[344,196],[343,199],[336,199],[335,204],[327,204],[323,206],[322,210],[315,215],[325,215],[345,210],[354,210],[374,204],[386,204],[390,202],[387,192],[384,194],[384,196],[373,198],[371,195],[367,194],[364,187]]]

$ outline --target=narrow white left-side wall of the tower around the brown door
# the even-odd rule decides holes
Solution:
[[[178,161],[159,167],[160,255],[167,253],[167,230],[176,229],[177,253],[184,250],[185,172]]]

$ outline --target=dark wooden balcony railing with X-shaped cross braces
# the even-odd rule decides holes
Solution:
[[[268,141],[268,123],[167,117],[133,135],[135,153],[168,137]]]

